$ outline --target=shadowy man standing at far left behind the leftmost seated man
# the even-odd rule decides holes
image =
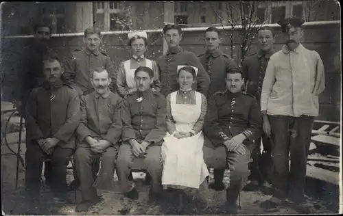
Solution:
[[[19,110],[22,118],[25,118],[26,100],[30,92],[43,84],[45,75],[43,72],[43,57],[45,55],[56,55],[49,47],[51,39],[51,27],[45,23],[38,22],[34,25],[34,40],[30,40],[28,46],[24,48],[23,74],[21,79],[21,95]],[[28,132],[26,132],[28,133]],[[51,183],[51,163],[45,161],[45,181],[47,185]]]

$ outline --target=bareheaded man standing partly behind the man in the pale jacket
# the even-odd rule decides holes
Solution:
[[[245,75],[246,92],[252,94],[257,99],[260,105],[262,83],[265,76],[265,69],[267,68],[268,61],[271,55],[275,53],[273,49],[274,44],[274,31],[271,27],[262,27],[257,33],[257,40],[259,41],[259,51],[248,55],[242,64],[242,70]],[[263,139],[263,157],[270,157],[272,145],[270,137],[262,133]],[[268,165],[264,164],[259,166],[261,158],[261,138],[255,140],[257,146],[252,150],[252,162],[249,164],[251,180],[244,190],[253,191],[263,185],[264,180],[268,180],[268,172],[263,172],[267,169]],[[270,181],[270,180],[268,180]]]

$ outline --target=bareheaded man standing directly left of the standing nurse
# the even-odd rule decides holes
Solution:
[[[117,75],[110,57],[99,50],[102,42],[102,35],[99,29],[89,27],[84,30],[84,49],[77,49],[71,54],[72,57],[67,60],[65,77],[80,95],[84,92],[93,91],[91,83],[91,71],[95,68],[105,68],[110,74],[112,82],[110,91],[115,92]]]

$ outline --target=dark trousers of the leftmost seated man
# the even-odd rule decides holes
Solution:
[[[56,146],[51,155],[45,154],[38,144],[27,145],[25,152],[25,187],[27,192],[37,197],[40,195],[40,178],[43,161],[51,161],[51,190],[56,195],[67,194],[67,166],[74,150]]]

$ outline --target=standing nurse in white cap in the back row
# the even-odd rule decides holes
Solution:
[[[128,46],[130,46],[132,57],[119,65],[117,75],[118,94],[124,97],[126,94],[137,90],[134,81],[134,70],[140,66],[147,66],[154,71],[152,90],[159,92],[161,83],[159,81],[158,66],[156,62],[144,56],[145,51],[147,51],[147,33],[145,31],[131,31],[128,33],[128,39]]]

